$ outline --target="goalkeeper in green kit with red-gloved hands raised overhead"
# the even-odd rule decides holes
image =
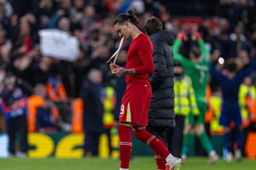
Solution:
[[[182,42],[187,37],[183,33],[177,35],[177,39],[173,45],[174,59],[180,61],[185,69],[185,74],[191,77],[192,87],[195,90],[196,102],[200,111],[198,116],[189,114],[188,124],[185,127],[185,136],[183,138],[183,147],[181,151],[181,158],[186,160],[187,153],[191,144],[193,135],[198,136],[200,143],[209,155],[209,164],[218,160],[218,154],[212,147],[212,143],[207,136],[204,128],[204,115],[207,111],[206,103],[206,86],[209,79],[209,52],[205,48],[204,41],[201,39],[199,33],[192,34],[192,40],[197,41],[198,46],[192,46],[189,51],[189,58],[182,56],[179,53]]]

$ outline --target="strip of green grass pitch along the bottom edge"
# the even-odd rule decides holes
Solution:
[[[119,170],[119,160],[10,158],[0,159],[0,170]],[[130,163],[130,170],[157,170],[157,167],[153,156],[135,157]],[[194,157],[187,159],[180,170],[256,170],[256,160],[227,163],[220,159],[207,165],[207,158]]]

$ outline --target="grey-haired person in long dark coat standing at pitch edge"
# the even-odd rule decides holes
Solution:
[[[103,130],[103,104],[100,99],[102,91],[102,72],[92,69],[88,80],[84,82],[81,98],[84,102],[84,155],[97,156],[99,137]]]

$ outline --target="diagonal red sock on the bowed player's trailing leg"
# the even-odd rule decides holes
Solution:
[[[148,133],[145,129],[134,131],[134,137],[139,139],[141,142],[147,144],[156,153],[160,154],[164,159],[170,154],[166,145],[164,145],[160,139],[156,136]]]

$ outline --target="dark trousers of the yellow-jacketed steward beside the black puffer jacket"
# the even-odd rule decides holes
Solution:
[[[175,127],[166,129],[168,150],[178,158],[181,157],[184,121],[185,116],[175,115]]]

